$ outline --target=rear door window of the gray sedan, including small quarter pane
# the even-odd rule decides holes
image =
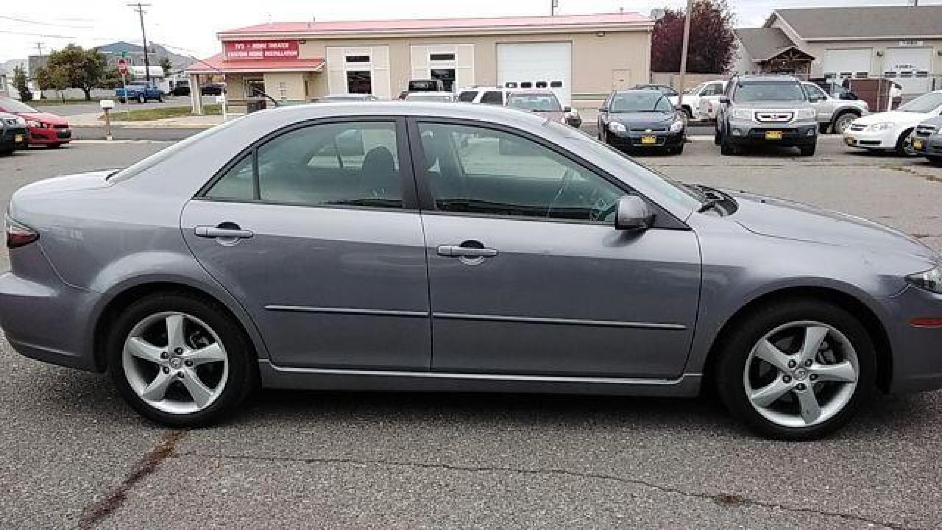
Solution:
[[[387,122],[296,129],[236,163],[206,196],[317,207],[402,207],[396,134],[396,124]]]

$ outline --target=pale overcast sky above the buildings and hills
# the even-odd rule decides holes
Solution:
[[[140,0],[146,8],[149,40],[167,45],[182,55],[205,58],[218,53],[216,32],[265,22],[440,18],[549,14],[550,0]],[[809,8],[853,5],[905,5],[907,0],[728,0],[738,25],[761,25],[775,8]],[[125,1],[3,0],[0,10],[0,62],[36,53],[36,42],[45,50],[69,42],[83,46],[113,41],[140,42],[138,14]],[[560,14],[638,11],[678,8],[686,0],[559,0]],[[942,0],[920,0],[938,4]],[[220,9],[219,6],[227,5]],[[19,19],[19,20],[13,20]]]

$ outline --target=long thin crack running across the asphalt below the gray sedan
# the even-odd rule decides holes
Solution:
[[[175,457],[181,456],[198,456],[203,458],[221,458],[221,459],[232,459],[232,460],[257,460],[257,461],[267,461],[267,462],[298,462],[303,464],[351,464],[351,465],[375,465],[375,466],[387,466],[387,467],[398,467],[398,468],[417,468],[417,469],[428,469],[428,470],[446,470],[446,471],[455,471],[455,472],[510,472],[517,474],[533,474],[533,475],[558,475],[558,476],[569,476],[576,478],[586,478],[594,480],[609,480],[614,482],[620,482],[623,484],[630,484],[633,486],[641,486],[647,489],[654,489],[663,493],[673,493],[675,495],[680,495],[690,499],[702,499],[707,501],[712,501],[717,505],[723,506],[735,506],[735,505],[753,505],[766,507],[771,509],[780,509],[783,511],[793,512],[793,513],[807,513],[817,516],[825,517],[836,517],[847,522],[864,522],[870,525],[877,525],[884,528],[889,528],[891,530],[914,530],[915,527],[904,526],[901,523],[897,522],[885,522],[877,521],[875,519],[869,519],[867,517],[853,515],[843,512],[834,512],[827,510],[820,510],[814,508],[805,508],[800,506],[792,505],[782,505],[778,503],[770,503],[768,501],[761,501],[758,499],[753,499],[750,497],[745,497],[736,493],[700,493],[696,491],[688,491],[686,489],[680,489],[674,486],[665,486],[650,482],[647,480],[642,480],[639,478],[626,478],[624,476],[618,476],[613,474],[598,473],[598,472],[578,472],[573,470],[564,470],[560,468],[547,468],[547,469],[532,469],[532,468],[513,468],[508,466],[464,466],[459,464],[431,464],[431,463],[422,463],[422,462],[397,462],[393,460],[382,460],[374,458],[316,458],[316,457],[300,457],[300,456],[273,456],[273,455],[206,455],[200,452],[186,452],[175,454]]]

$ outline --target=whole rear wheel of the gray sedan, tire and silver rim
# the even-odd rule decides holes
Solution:
[[[254,388],[252,345],[215,303],[184,293],[123,310],[107,341],[108,371],[142,416],[173,427],[215,422]]]

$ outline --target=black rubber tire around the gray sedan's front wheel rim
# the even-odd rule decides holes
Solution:
[[[848,403],[828,420],[810,426],[787,427],[771,422],[755,410],[746,396],[743,371],[755,343],[776,327],[799,321],[828,324],[850,340],[857,355],[857,384]],[[738,323],[723,341],[715,366],[716,388],[723,404],[739,421],[770,439],[823,438],[849,422],[875,389],[876,352],[867,328],[844,308],[825,301],[795,298],[759,307]]]

